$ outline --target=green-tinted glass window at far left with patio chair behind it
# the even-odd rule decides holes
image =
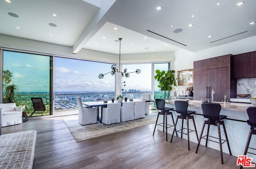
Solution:
[[[51,56],[3,51],[3,102],[15,102],[28,116],[51,115]],[[35,111],[32,97],[42,98],[46,110]]]

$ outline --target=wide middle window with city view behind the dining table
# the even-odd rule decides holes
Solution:
[[[54,109],[77,108],[76,97],[96,101],[108,95],[115,97],[115,76],[112,64],[54,57]],[[106,74],[99,79],[99,74]]]

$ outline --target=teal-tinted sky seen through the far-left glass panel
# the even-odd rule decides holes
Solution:
[[[20,91],[49,92],[50,57],[4,51],[3,70],[12,72]]]

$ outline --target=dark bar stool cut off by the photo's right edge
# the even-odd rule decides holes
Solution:
[[[247,153],[250,153],[250,152],[247,152],[248,148],[254,149],[254,148],[249,147],[249,144],[250,144],[252,135],[256,134],[256,107],[247,107],[246,111],[247,111],[247,114],[249,117],[249,119],[247,120],[247,124],[250,125],[251,128],[250,128],[250,131],[248,134],[248,139],[247,139],[247,142],[245,145],[244,155],[246,155]],[[256,149],[254,149],[254,150],[256,150]],[[250,154],[256,155],[255,153],[250,153]],[[243,168],[243,166],[241,165],[240,169],[242,169],[242,168]]]

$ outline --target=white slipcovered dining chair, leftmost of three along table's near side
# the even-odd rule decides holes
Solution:
[[[108,103],[107,107],[102,107],[102,123],[120,123],[120,111],[121,103]]]

